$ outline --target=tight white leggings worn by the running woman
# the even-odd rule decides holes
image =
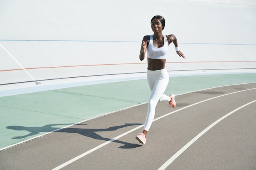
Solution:
[[[170,101],[171,97],[164,94],[164,91],[169,82],[167,70],[148,70],[147,72],[148,85],[151,90],[151,95],[148,100],[148,113],[144,130],[148,131],[155,117],[155,107],[158,101]]]

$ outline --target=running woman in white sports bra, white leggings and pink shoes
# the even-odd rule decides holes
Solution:
[[[169,75],[165,69],[165,62],[167,58],[168,46],[173,42],[175,50],[180,57],[186,58],[179,49],[177,38],[175,35],[163,35],[165,20],[164,17],[156,15],[151,19],[151,29],[153,35],[146,35],[143,37],[139,59],[142,61],[145,58],[147,51],[148,70],[147,80],[151,90],[151,95],[148,100],[148,112],[143,133],[139,133],[136,139],[141,144],[146,144],[146,136],[148,130],[155,117],[155,107],[158,101],[168,101],[174,108],[176,106],[175,95],[167,96],[164,94],[169,82]]]

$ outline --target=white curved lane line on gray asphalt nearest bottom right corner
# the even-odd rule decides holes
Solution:
[[[177,153],[175,153],[170,159],[168,159],[168,161],[166,161],[158,170],[164,170],[165,168],[167,168],[178,156],[180,156],[187,148],[189,148],[189,146],[191,146],[198,138],[200,138],[202,135],[204,135],[204,133],[206,133],[207,131],[209,131],[213,126],[215,126],[218,122],[222,121],[223,119],[227,118],[229,115],[231,115],[232,113],[235,113],[236,111],[238,111],[239,109],[242,109],[243,107],[246,107],[247,105],[252,104],[253,102],[256,102],[256,100],[249,102],[241,107],[238,107],[237,109],[227,113],[225,116],[223,116],[222,118],[216,120],[214,123],[212,123],[210,126],[208,126],[206,129],[204,129],[201,133],[199,133],[198,135],[196,135],[191,141],[189,141],[186,145],[184,145]]]

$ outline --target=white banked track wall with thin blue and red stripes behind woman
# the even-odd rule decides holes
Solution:
[[[175,34],[187,57],[178,57],[171,44],[170,74],[255,72],[255,5],[0,0],[0,90],[33,87],[34,80],[49,85],[145,76],[139,49],[152,34],[154,15],[165,17],[163,33]]]

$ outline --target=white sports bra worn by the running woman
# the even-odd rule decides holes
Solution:
[[[166,59],[168,52],[168,40],[166,35],[164,35],[164,46],[155,47],[153,44],[153,35],[150,35],[149,44],[147,47],[147,55],[150,59]]]

